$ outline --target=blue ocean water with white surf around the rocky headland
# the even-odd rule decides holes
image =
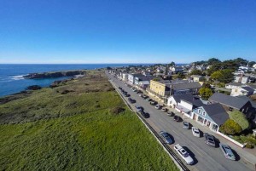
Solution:
[[[98,69],[103,67],[131,66],[132,64],[84,64],[84,65],[0,65],[0,97],[19,93],[30,85],[47,87],[56,80],[67,77],[47,78],[47,79],[24,79],[22,76],[45,71],[65,71]],[[147,64],[142,64],[146,65]],[[138,66],[138,64],[134,64]]]

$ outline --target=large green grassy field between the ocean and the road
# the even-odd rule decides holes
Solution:
[[[97,72],[0,105],[0,117],[0,170],[177,170]]]

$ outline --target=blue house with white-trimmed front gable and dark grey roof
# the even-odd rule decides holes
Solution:
[[[201,123],[212,131],[218,132],[218,128],[230,117],[224,107],[218,103],[202,105],[192,111],[191,118],[197,123]]]

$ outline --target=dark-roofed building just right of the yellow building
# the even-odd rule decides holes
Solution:
[[[171,94],[197,94],[201,88],[201,83],[173,83]]]

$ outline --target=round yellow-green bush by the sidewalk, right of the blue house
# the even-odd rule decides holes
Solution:
[[[236,123],[232,119],[228,119],[222,126],[220,126],[219,131],[223,134],[240,134],[241,133],[241,126]]]

